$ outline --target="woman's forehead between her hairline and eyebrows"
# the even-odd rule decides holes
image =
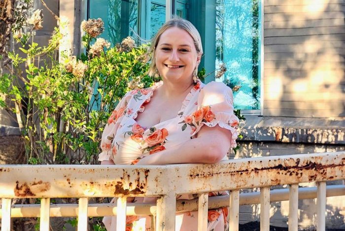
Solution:
[[[172,27],[167,29],[160,36],[158,45],[179,45],[179,46],[192,46],[194,45],[191,35],[180,28]]]

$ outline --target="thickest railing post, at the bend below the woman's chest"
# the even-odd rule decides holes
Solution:
[[[163,195],[157,199],[156,231],[175,230],[176,196]]]

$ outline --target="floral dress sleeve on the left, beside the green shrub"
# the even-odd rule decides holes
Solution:
[[[113,147],[113,140],[117,129],[127,111],[128,101],[131,98],[131,92],[128,92],[117,104],[114,111],[109,116],[104,127],[101,140],[102,152],[98,156],[98,161],[110,160],[111,154],[116,154],[116,148]]]

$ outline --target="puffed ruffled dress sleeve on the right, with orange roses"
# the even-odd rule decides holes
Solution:
[[[231,147],[236,148],[239,118],[234,115],[232,90],[222,82],[209,82],[201,89],[198,96],[198,110],[192,114],[197,125],[194,137],[205,124],[209,127],[219,125],[229,130]]]

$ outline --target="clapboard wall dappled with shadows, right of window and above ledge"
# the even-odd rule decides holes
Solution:
[[[345,116],[345,0],[264,0],[264,116]]]

